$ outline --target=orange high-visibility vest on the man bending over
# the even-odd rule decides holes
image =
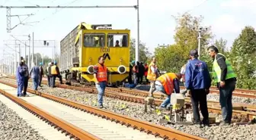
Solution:
[[[165,92],[167,95],[171,95],[172,91],[174,90],[174,82],[173,80],[178,78],[175,73],[166,73],[162,76],[159,76],[157,81],[162,83],[162,86],[165,88]]]

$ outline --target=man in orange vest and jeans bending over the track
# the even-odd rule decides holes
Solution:
[[[171,93],[173,91],[180,93],[179,80],[181,79],[181,76],[181,73],[165,73],[155,80],[155,89],[168,96],[160,105],[160,109],[170,107]]]

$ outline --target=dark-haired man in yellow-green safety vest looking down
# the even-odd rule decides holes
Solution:
[[[222,107],[222,123],[227,126],[232,120],[232,92],[235,90],[236,75],[230,61],[224,54],[220,54],[214,45],[208,48],[208,53],[213,58],[214,82],[219,88],[219,102]]]

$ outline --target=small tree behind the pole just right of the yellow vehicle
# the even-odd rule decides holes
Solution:
[[[131,39],[130,42],[130,61],[135,61],[135,47],[136,47],[136,39]],[[146,47],[146,44],[143,42],[139,42],[139,61],[148,62],[151,53],[149,52],[149,48]]]

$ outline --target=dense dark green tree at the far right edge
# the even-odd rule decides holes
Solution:
[[[256,89],[256,32],[253,27],[245,26],[242,33],[233,42],[229,55],[238,78],[237,87]]]

